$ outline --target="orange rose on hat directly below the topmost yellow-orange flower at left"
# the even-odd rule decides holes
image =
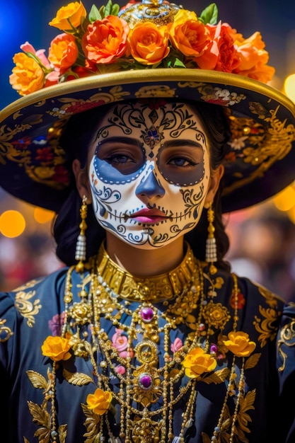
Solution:
[[[48,59],[54,68],[63,73],[76,62],[78,52],[73,35],[59,34],[50,44]]]

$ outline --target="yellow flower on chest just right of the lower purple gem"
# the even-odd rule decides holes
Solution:
[[[183,359],[185,375],[190,379],[196,379],[204,372],[212,372],[216,368],[216,359],[210,354],[206,354],[202,347],[191,350]]]

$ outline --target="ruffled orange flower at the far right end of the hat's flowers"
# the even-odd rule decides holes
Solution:
[[[235,45],[241,58],[241,64],[235,73],[263,83],[270,81],[275,70],[274,67],[267,66],[269,55],[264,49],[265,42],[262,41],[261,34],[256,32],[246,39],[241,34],[233,34],[233,38],[235,37]]]

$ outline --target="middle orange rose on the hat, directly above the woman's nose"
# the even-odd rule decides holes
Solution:
[[[132,57],[144,65],[161,63],[167,57],[168,40],[167,26],[158,27],[150,22],[137,23],[128,35]]]

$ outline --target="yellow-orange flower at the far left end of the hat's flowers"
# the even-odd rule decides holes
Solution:
[[[45,74],[40,64],[23,52],[15,54],[13,62],[16,66],[9,76],[9,83],[21,96],[43,88]]]

